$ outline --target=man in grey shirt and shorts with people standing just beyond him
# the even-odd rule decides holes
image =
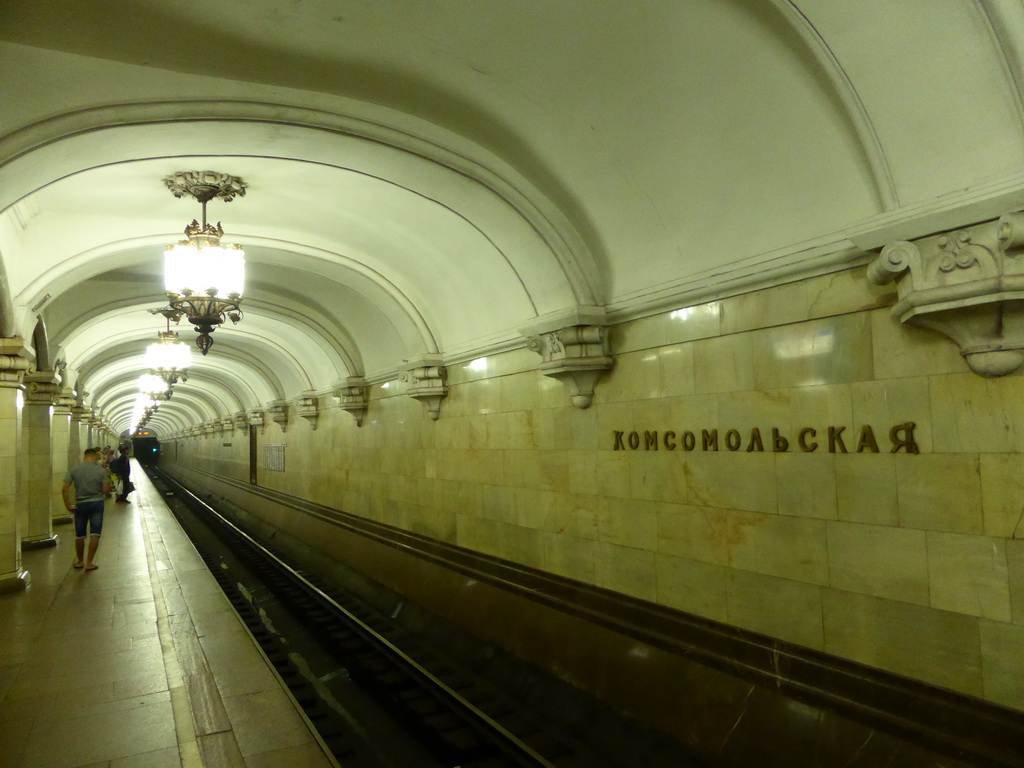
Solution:
[[[115,493],[118,504],[129,504],[128,494],[134,489],[131,483],[130,443],[118,446],[118,455],[108,445],[86,449],[82,463],[73,467],[65,475],[61,495],[65,507],[75,513],[75,563],[74,567],[95,570],[93,562],[99,548],[99,537],[103,530],[103,499]],[[72,501],[71,488],[75,486]],[[86,549],[86,539],[89,540]]]

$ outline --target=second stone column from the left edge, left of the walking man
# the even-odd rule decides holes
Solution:
[[[22,415],[23,451],[26,460],[26,503],[28,519],[23,531],[22,549],[55,547],[53,534],[52,461],[50,425],[53,401],[60,387],[52,371],[29,371],[25,375],[25,411]]]

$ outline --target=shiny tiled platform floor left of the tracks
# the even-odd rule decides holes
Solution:
[[[74,527],[0,595],[0,768],[337,765],[136,464],[99,568]]]

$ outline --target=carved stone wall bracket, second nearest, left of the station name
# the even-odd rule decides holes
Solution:
[[[538,370],[562,382],[572,404],[590,408],[598,379],[611,369],[603,326],[569,326],[531,336],[526,346],[541,355]]]

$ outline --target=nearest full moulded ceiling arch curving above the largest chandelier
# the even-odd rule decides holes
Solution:
[[[488,227],[496,225],[498,217],[494,209],[499,204],[505,209],[501,218],[508,224],[518,222],[515,226],[518,237],[499,237],[497,241],[518,242],[521,251],[523,242],[527,242],[522,238],[522,229],[529,229],[531,240],[543,244],[552,261],[559,265],[559,282],[570,292],[567,302],[563,297],[563,303],[594,304],[605,293],[598,259],[593,255],[594,245],[586,243],[580,236],[580,227],[505,161],[436,126],[429,131],[435,135],[430,140],[423,134],[415,136],[380,123],[305,108],[255,101],[118,104],[25,126],[4,137],[4,146],[9,148],[0,156],[0,186],[10,191],[0,197],[0,211],[49,183],[91,168],[195,155],[187,146],[174,152],[175,144],[181,144],[185,138],[189,124],[202,125],[204,154],[210,155],[211,125],[217,123],[229,126],[224,137],[230,138],[232,150],[221,150],[216,155],[250,155],[244,150],[244,134],[266,136],[269,132],[274,136],[272,157],[374,177],[458,212],[467,221],[482,220]],[[171,126],[173,132],[146,131],[156,126]],[[335,141],[310,142],[301,138],[309,132],[331,135]],[[122,133],[129,136],[121,137]],[[150,137],[140,140],[131,135],[138,133],[148,133]],[[290,156],[286,150],[291,134],[295,136],[295,152]],[[265,145],[263,138],[252,142]],[[348,146],[351,142],[358,146],[354,152]],[[316,157],[317,145],[330,147],[330,152],[325,150],[323,157]],[[126,157],[128,153],[131,157]],[[353,163],[353,159],[361,161],[361,165]],[[18,170],[23,165],[26,168]],[[8,182],[14,185],[8,186]],[[489,213],[487,209],[492,209]],[[584,228],[590,228],[589,224],[585,223]],[[507,254],[516,256],[513,249],[508,249]],[[545,270],[543,275],[531,275],[528,269],[519,271],[521,279],[530,284],[531,293],[536,291],[543,296],[550,292],[550,271]]]

